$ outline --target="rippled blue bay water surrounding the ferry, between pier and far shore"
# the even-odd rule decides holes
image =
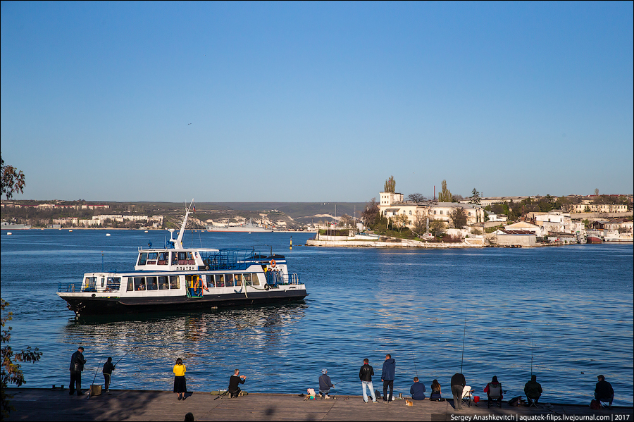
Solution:
[[[233,368],[252,392],[305,392],[328,368],[336,392],[361,394],[359,367],[385,353],[397,361],[395,392],[411,378],[445,396],[460,371],[481,391],[492,376],[523,394],[533,373],[543,402],[586,404],[602,373],[614,404],[632,405],[633,245],[535,249],[336,249],[298,246],[311,235],[191,233],[206,247],[251,247],[285,254],[309,297],[287,306],[205,313],[144,314],[77,320],[56,295],[59,282],[89,271],[129,271],[137,247],[165,241],[139,230],[15,230],[1,235],[1,291],[11,306],[11,345],[37,346],[41,361],[23,366],[27,387],[68,384],[70,354],[88,359],[84,385],[107,356],[113,388],[170,390],[177,357],[189,390],[226,388]],[[464,339],[464,360],[463,353]],[[532,363],[531,363],[532,359]],[[99,383],[103,383],[99,370]],[[378,381],[378,382],[376,382]]]

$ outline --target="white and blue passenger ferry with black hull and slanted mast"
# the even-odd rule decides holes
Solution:
[[[192,201],[193,202],[193,201]],[[306,297],[299,275],[282,255],[254,249],[183,248],[185,218],[166,248],[139,248],[135,271],[85,273],[81,283],[60,283],[58,295],[77,316],[146,311],[216,309],[288,302]]]

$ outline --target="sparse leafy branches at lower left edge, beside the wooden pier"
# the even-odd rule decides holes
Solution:
[[[1,332],[1,343],[2,343],[2,368],[0,370],[0,380],[1,380],[1,411],[2,418],[6,418],[9,414],[9,411],[14,410],[11,407],[11,404],[7,401],[12,396],[6,394],[6,387],[9,384],[15,384],[20,387],[26,383],[24,379],[24,374],[22,370],[20,370],[20,364],[15,364],[15,362],[37,362],[42,357],[42,352],[39,352],[39,349],[35,347],[35,349],[31,349],[31,347],[27,347],[26,350],[22,350],[22,352],[14,353],[11,349],[11,346],[6,343],[11,340],[11,327],[4,328],[4,325],[7,321],[11,321],[13,319],[13,313],[9,312],[5,314],[5,308],[8,306],[8,303],[4,301],[4,299],[0,299],[0,310],[3,315],[0,317],[0,322],[2,326]]]

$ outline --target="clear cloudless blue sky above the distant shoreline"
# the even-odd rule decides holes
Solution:
[[[15,199],[632,193],[633,15],[3,1],[2,158]]]

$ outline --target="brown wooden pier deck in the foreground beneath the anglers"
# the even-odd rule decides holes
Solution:
[[[404,400],[390,404],[364,404],[360,396],[304,401],[297,395],[249,394],[235,399],[222,397],[214,400],[217,396],[209,392],[193,392],[188,393],[184,401],[178,401],[174,393],[166,391],[112,390],[110,395],[102,394],[90,399],[87,395],[70,396],[68,389],[20,387],[8,388],[7,392],[14,395],[10,402],[16,410],[6,421],[182,421],[187,412],[192,412],[196,421],[457,421],[456,416],[468,420],[466,416],[474,415],[481,418],[497,415],[506,417],[506,421],[519,420],[509,416],[542,415],[541,420],[554,421],[557,418],[553,416],[557,415],[633,414],[632,407],[593,411],[590,407],[559,404],[535,409],[509,407],[504,403],[502,409],[487,409],[486,402],[480,402],[479,407],[473,404],[466,407],[465,404],[463,411],[454,412],[452,400],[414,401],[414,406],[409,407]],[[551,415],[549,419],[548,415]],[[632,416],[609,417],[607,420],[617,419],[632,421]]]

